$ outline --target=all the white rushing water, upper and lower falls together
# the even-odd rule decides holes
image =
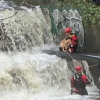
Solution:
[[[98,96],[93,92],[97,91],[94,84],[87,87],[88,96],[70,95],[72,65],[77,63],[69,65],[65,59],[42,53],[43,49],[57,48],[50,23],[39,6],[21,8],[16,16],[0,22],[0,49],[8,51],[0,52],[0,100],[94,100]],[[0,19],[15,12],[1,11]],[[91,76],[88,64],[83,61],[83,65]]]

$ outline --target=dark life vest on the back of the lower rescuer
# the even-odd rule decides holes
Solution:
[[[86,84],[84,83],[84,81],[82,81],[82,74],[75,74],[74,75],[74,87],[75,88],[85,88]]]

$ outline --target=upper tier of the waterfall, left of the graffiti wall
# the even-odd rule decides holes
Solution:
[[[39,6],[34,6],[32,9],[22,6],[15,16],[8,18],[16,12],[16,9],[5,9],[0,12],[0,49],[2,51],[25,51],[34,46],[53,42],[50,28]]]

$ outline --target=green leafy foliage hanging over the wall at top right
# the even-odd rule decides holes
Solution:
[[[96,6],[93,2],[93,0],[89,0],[88,3],[87,0],[58,0],[59,3],[63,3],[63,6],[65,5],[71,5],[74,8],[78,8],[77,10],[81,10],[81,18],[83,20],[83,23],[85,26],[88,25],[88,23],[91,23],[92,25],[98,24],[100,25],[100,6]],[[80,9],[79,9],[80,8]]]

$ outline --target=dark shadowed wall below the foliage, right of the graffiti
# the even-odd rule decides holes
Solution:
[[[83,52],[100,54],[100,26],[94,25],[91,23],[88,27],[84,28],[85,30],[85,45]]]

